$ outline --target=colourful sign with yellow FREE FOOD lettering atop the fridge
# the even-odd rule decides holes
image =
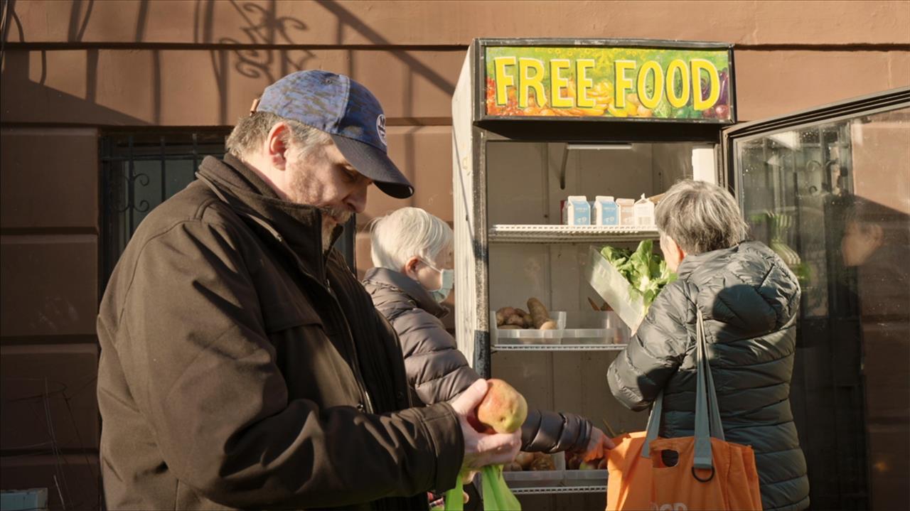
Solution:
[[[728,49],[486,46],[492,116],[731,122]]]

